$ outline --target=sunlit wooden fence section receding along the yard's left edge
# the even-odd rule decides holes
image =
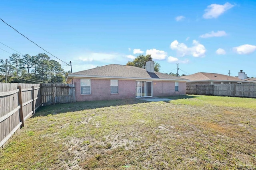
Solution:
[[[0,147],[41,106],[40,84],[0,83]]]

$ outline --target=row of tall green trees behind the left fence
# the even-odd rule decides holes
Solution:
[[[6,74],[8,83],[64,82],[69,72],[45,53],[34,56],[12,54],[7,64],[6,60],[0,59],[0,82],[5,82]]]

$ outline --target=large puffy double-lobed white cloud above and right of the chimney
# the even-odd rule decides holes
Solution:
[[[177,40],[172,41],[170,48],[176,50],[178,55],[193,55],[194,57],[204,57],[206,49],[204,45],[200,44],[198,41],[193,40],[193,46],[188,47],[184,43],[179,43]]]

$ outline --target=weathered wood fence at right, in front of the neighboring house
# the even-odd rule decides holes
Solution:
[[[186,85],[186,94],[256,98],[256,84]]]

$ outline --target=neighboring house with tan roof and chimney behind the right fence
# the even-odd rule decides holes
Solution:
[[[188,76],[181,76],[189,81],[189,85],[209,85],[209,84],[244,84],[255,83],[253,80],[247,79],[247,75],[243,70],[238,72],[238,77],[228,76],[218,73],[198,72]]]

